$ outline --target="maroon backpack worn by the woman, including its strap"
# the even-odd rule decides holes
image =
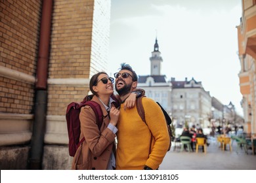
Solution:
[[[98,129],[100,129],[102,122],[103,122],[103,112],[98,103],[95,101],[91,101],[93,95],[87,95],[83,101],[80,103],[72,102],[68,105],[66,110],[66,122],[68,127],[68,150],[70,153],[70,156],[75,156],[75,152],[79,145],[85,141],[85,137],[79,141],[81,129],[80,129],[80,120],[79,120],[79,114],[81,107],[84,107],[85,105],[89,105],[91,108],[93,108],[93,111],[95,112],[96,116],[96,124],[98,125]],[[112,95],[112,99],[114,99],[116,102],[114,103],[117,107],[119,105],[119,102],[117,101],[116,97]]]

